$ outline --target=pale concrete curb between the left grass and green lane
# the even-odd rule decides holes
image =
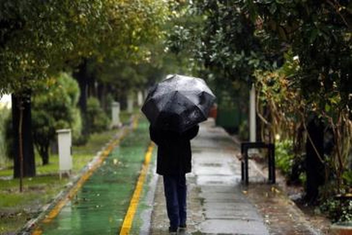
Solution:
[[[102,148],[100,151],[98,151],[95,156],[93,157],[93,159],[87,163],[86,166],[84,166],[80,172],[71,177],[71,180],[69,183],[67,183],[65,185],[65,188],[63,190],[61,190],[55,197],[54,199],[52,199],[52,201],[48,204],[45,204],[43,205],[39,211],[41,211],[39,213],[39,215],[35,218],[32,218],[30,219],[23,227],[21,227],[20,229],[18,229],[15,234],[19,234],[19,235],[29,235],[31,234],[31,230],[35,227],[35,225],[41,221],[46,214],[48,214],[48,212],[55,207],[55,205],[61,200],[63,199],[67,194],[68,192],[70,192],[71,188],[73,188],[78,180],[82,177],[82,175],[84,173],[86,173],[87,171],[89,171],[89,169],[91,168],[91,166],[93,166],[100,158],[100,155],[102,153],[102,151],[107,147],[109,146],[109,144],[111,144],[113,141],[115,141],[117,138],[119,138],[122,133],[124,132],[124,130],[127,128],[127,129],[133,129],[133,120],[135,118],[138,118],[134,115],[131,115],[131,118],[130,118],[130,122],[128,125],[125,125],[125,126],[122,126],[118,131],[117,131],[117,134],[109,141],[107,142]]]

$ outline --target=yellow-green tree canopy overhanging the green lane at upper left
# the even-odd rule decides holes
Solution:
[[[81,58],[144,60],[161,37],[163,1],[4,0],[0,3],[0,93],[32,88]]]

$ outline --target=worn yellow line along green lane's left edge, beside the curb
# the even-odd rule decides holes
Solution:
[[[136,121],[137,118],[134,119],[134,122]],[[115,146],[119,144],[119,142],[124,138],[128,133],[128,129],[126,128],[124,132],[121,134],[119,138],[116,140],[112,141],[106,148],[103,150],[101,155],[99,156],[99,159],[94,163],[94,165],[89,168],[87,172],[85,172],[81,178],[77,181],[75,186],[71,188],[71,190],[67,193],[67,195],[61,199],[56,206],[49,212],[49,214],[42,220],[43,223],[50,223],[61,211],[61,209],[76,195],[77,191],[83,186],[84,182],[86,182],[89,177],[93,174],[93,172],[103,163],[103,161],[107,158],[109,153],[114,149]],[[33,232],[32,235],[41,235],[43,233],[42,229],[37,226]]]

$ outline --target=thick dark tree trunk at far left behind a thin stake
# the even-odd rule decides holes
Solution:
[[[23,121],[21,128],[21,142],[23,149],[23,177],[33,177],[36,175],[36,167],[34,162],[34,149],[33,149],[33,138],[32,138],[32,117],[31,117],[31,92],[25,92],[22,94],[12,94],[12,126],[13,126],[13,160],[14,160],[14,171],[13,177],[20,177],[20,136],[19,136],[19,124],[20,124],[20,106],[23,107]]]

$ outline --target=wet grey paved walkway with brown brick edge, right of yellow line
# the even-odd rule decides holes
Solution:
[[[252,164],[250,186],[240,183],[239,148],[212,120],[192,141],[193,171],[187,175],[188,232],[191,234],[320,234],[297,207],[265,181]],[[150,234],[167,234],[162,178],[159,177]]]

